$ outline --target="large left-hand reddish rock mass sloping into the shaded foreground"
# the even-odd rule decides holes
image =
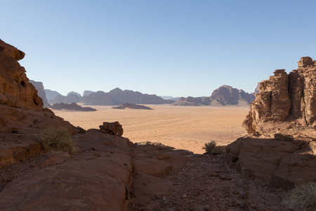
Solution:
[[[131,196],[139,200],[167,193],[171,182],[163,179],[183,165],[186,151],[133,147],[120,137],[118,122],[103,124],[103,132],[88,129],[77,134],[79,129],[43,108],[18,64],[23,56],[1,41],[0,210],[127,210]],[[64,127],[76,135],[78,154],[41,153],[34,135],[48,127]]]

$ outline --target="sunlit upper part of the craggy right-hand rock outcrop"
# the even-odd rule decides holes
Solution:
[[[270,79],[260,82],[260,92],[251,103],[243,122],[248,133],[261,132],[265,122],[289,121],[315,127],[316,64],[310,57],[298,61],[298,69],[287,75],[275,70]]]

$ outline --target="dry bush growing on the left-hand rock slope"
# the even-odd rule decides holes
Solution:
[[[48,127],[35,136],[37,142],[41,143],[44,151],[65,151],[70,154],[76,153],[75,141],[69,130],[62,127]]]

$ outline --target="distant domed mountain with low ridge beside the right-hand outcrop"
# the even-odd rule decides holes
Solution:
[[[254,101],[254,95],[246,93],[242,89],[235,89],[228,85],[223,85],[214,90],[210,97],[187,97],[179,98],[173,103],[174,106],[227,106],[238,105],[246,106]]]

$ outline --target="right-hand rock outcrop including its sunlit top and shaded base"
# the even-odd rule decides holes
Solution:
[[[287,74],[275,70],[260,82],[243,127],[225,162],[246,177],[282,188],[316,181],[316,63],[309,57]]]

